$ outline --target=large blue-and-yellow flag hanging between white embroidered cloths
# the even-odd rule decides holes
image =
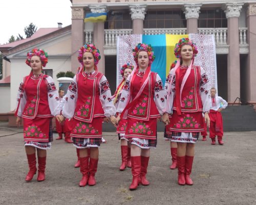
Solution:
[[[170,66],[177,58],[174,55],[174,48],[181,38],[187,38],[188,35],[142,35],[142,43],[151,44],[156,56],[151,70],[157,72],[161,77],[163,84],[169,73]]]

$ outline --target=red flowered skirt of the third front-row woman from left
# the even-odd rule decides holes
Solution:
[[[128,118],[125,138],[156,139],[157,118],[149,121]]]

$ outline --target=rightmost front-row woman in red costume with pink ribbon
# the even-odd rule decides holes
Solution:
[[[178,144],[178,183],[193,185],[190,173],[195,142],[204,130],[202,112],[209,127],[209,83],[205,71],[194,65],[198,50],[191,40],[180,39],[174,51],[179,59],[166,79],[166,113],[162,120],[166,124],[166,134],[171,134],[172,141]]]

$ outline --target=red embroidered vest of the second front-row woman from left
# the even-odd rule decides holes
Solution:
[[[77,102],[74,118],[84,122],[92,122],[95,117],[104,117],[104,111],[99,99],[99,80],[102,73],[96,71],[90,75],[80,72],[77,77]]]

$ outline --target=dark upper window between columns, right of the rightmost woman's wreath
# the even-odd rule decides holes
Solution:
[[[201,10],[198,18],[199,28],[227,28],[226,14],[221,9]]]

